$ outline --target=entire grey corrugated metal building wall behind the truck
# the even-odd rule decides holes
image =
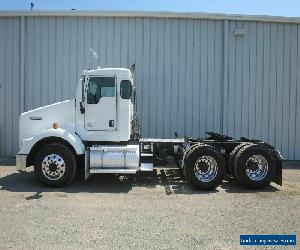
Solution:
[[[0,31],[1,156],[17,151],[20,110],[73,97],[85,68],[136,63],[145,137],[224,132],[300,160],[299,25],[42,16],[0,18]]]

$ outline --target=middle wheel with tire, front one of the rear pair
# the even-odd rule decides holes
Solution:
[[[184,175],[189,184],[201,189],[215,189],[223,180],[225,160],[212,146],[199,144],[185,158]]]

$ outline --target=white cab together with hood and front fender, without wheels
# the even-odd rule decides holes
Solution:
[[[78,154],[84,154],[82,141],[129,141],[133,93],[133,78],[128,69],[83,71],[75,99],[20,115],[19,154],[29,154],[46,137],[67,140]]]

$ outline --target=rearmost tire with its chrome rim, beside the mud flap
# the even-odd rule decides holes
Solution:
[[[246,188],[267,187],[275,175],[274,158],[267,149],[259,145],[247,145],[236,154],[234,174]]]

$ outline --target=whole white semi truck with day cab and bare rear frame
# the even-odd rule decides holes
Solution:
[[[136,105],[135,66],[84,70],[74,99],[22,113],[20,172],[34,166],[44,185],[69,184],[76,172],[151,173],[174,159],[186,182],[201,190],[225,177],[249,189],[282,185],[282,156],[266,142],[206,132],[205,138],[143,138]]]

